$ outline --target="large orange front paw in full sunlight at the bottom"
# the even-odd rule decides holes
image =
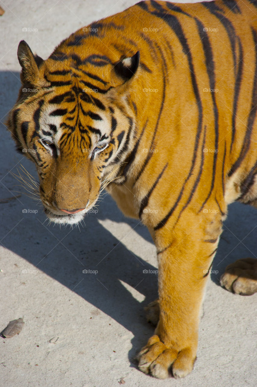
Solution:
[[[193,370],[195,360],[190,348],[181,351],[167,348],[157,335],[150,337],[137,355],[140,371],[159,379],[185,377]]]

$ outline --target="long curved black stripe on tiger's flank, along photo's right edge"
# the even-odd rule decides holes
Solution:
[[[257,34],[256,31],[252,28],[252,35],[254,38],[254,48],[255,48],[255,70],[254,70],[254,84],[252,88],[252,104],[251,110],[247,120],[247,126],[245,131],[245,137],[243,139],[242,148],[240,151],[240,155],[235,163],[232,165],[230,171],[228,172],[228,176],[231,176],[237,168],[240,167],[245,155],[247,154],[250,146],[250,137],[252,134],[252,127],[254,125],[256,110],[257,110]]]

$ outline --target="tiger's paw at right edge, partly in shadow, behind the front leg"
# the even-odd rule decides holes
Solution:
[[[232,293],[250,296],[257,292],[257,259],[238,259],[226,267],[221,286]]]

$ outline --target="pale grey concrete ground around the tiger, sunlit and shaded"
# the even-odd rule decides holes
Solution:
[[[25,39],[47,58],[76,29],[133,3],[0,1],[5,9],[0,17],[0,330],[10,320],[24,316],[25,321],[18,336],[0,338],[0,386],[115,387],[121,379],[127,387],[256,386],[257,295],[233,295],[219,286],[226,265],[256,258],[256,209],[230,206],[207,286],[193,372],[183,380],[157,380],[133,361],[153,333],[143,308],[157,296],[156,274],[143,273],[157,267],[147,229],[126,219],[107,195],[80,230],[47,226],[41,205],[24,194],[12,199],[21,189],[10,171],[23,165],[36,176],[3,125],[20,86],[19,41]]]

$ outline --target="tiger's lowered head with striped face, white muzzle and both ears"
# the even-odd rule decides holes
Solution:
[[[36,164],[47,217],[76,224],[130,147],[135,114],[127,94],[139,51],[113,61],[61,45],[44,61],[21,41],[18,59],[22,86],[7,127]]]

